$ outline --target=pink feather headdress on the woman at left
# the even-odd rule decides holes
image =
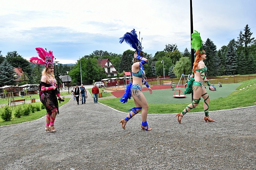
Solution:
[[[35,49],[40,58],[32,57],[29,60],[30,62],[35,64],[45,64],[45,67],[53,66],[54,56],[52,51],[47,52],[47,49],[44,50],[41,47],[37,47]]]

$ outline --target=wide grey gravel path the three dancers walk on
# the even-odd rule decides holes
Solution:
[[[100,100],[99,100],[100,101]],[[0,169],[256,169],[256,107],[191,113],[178,124],[175,114],[141,115],[121,128],[127,113],[91,97],[60,107],[56,133],[45,133],[45,117],[0,127]]]

